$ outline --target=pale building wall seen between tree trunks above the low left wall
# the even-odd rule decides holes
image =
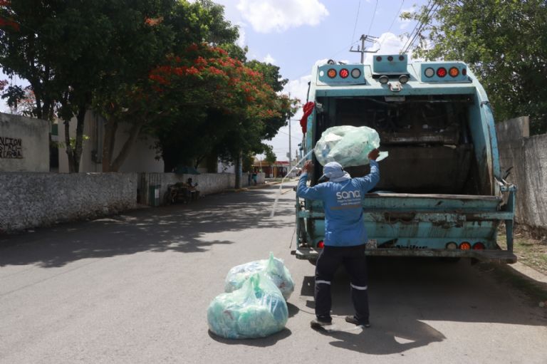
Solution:
[[[80,172],[102,172],[103,164],[101,157],[103,152],[105,120],[94,113],[88,111],[85,114],[83,134],[88,140],[83,142],[82,157],[80,159]],[[129,137],[131,125],[122,124],[116,130],[116,142],[114,155],[122,149],[123,143]],[[75,137],[76,120],[71,120],[71,137]],[[65,127],[62,121],[59,121],[59,142],[65,141]],[[141,136],[133,145],[130,154],[127,156],[119,172],[163,172],[163,160],[156,160],[156,151],[154,149],[155,139],[150,136]],[[96,155],[96,157],[94,157]],[[68,172],[68,157],[64,148],[59,148],[59,172]]]

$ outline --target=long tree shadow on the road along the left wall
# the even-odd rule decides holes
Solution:
[[[215,194],[192,204],[134,210],[90,222],[60,224],[0,237],[0,266],[38,264],[63,266],[86,258],[103,258],[141,251],[199,253],[215,244],[234,241],[204,240],[204,234],[281,227],[279,217],[292,215],[281,195],[276,217],[269,214],[271,192]]]

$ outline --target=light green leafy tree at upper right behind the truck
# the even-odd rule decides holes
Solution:
[[[466,62],[496,120],[530,115],[531,132],[547,132],[546,1],[434,0],[431,6],[403,15],[425,24],[417,54]]]

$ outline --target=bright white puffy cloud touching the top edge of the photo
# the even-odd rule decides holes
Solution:
[[[328,16],[327,8],[319,0],[240,0],[237,9],[259,33],[316,26]]]

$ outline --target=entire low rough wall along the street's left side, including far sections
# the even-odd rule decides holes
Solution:
[[[137,203],[155,205],[150,185],[160,185],[158,202],[163,204],[167,185],[189,177],[202,196],[232,189],[236,180],[231,173],[0,172],[0,233],[116,214]],[[246,173],[242,182],[248,185]],[[264,183],[264,173],[259,183]]]

